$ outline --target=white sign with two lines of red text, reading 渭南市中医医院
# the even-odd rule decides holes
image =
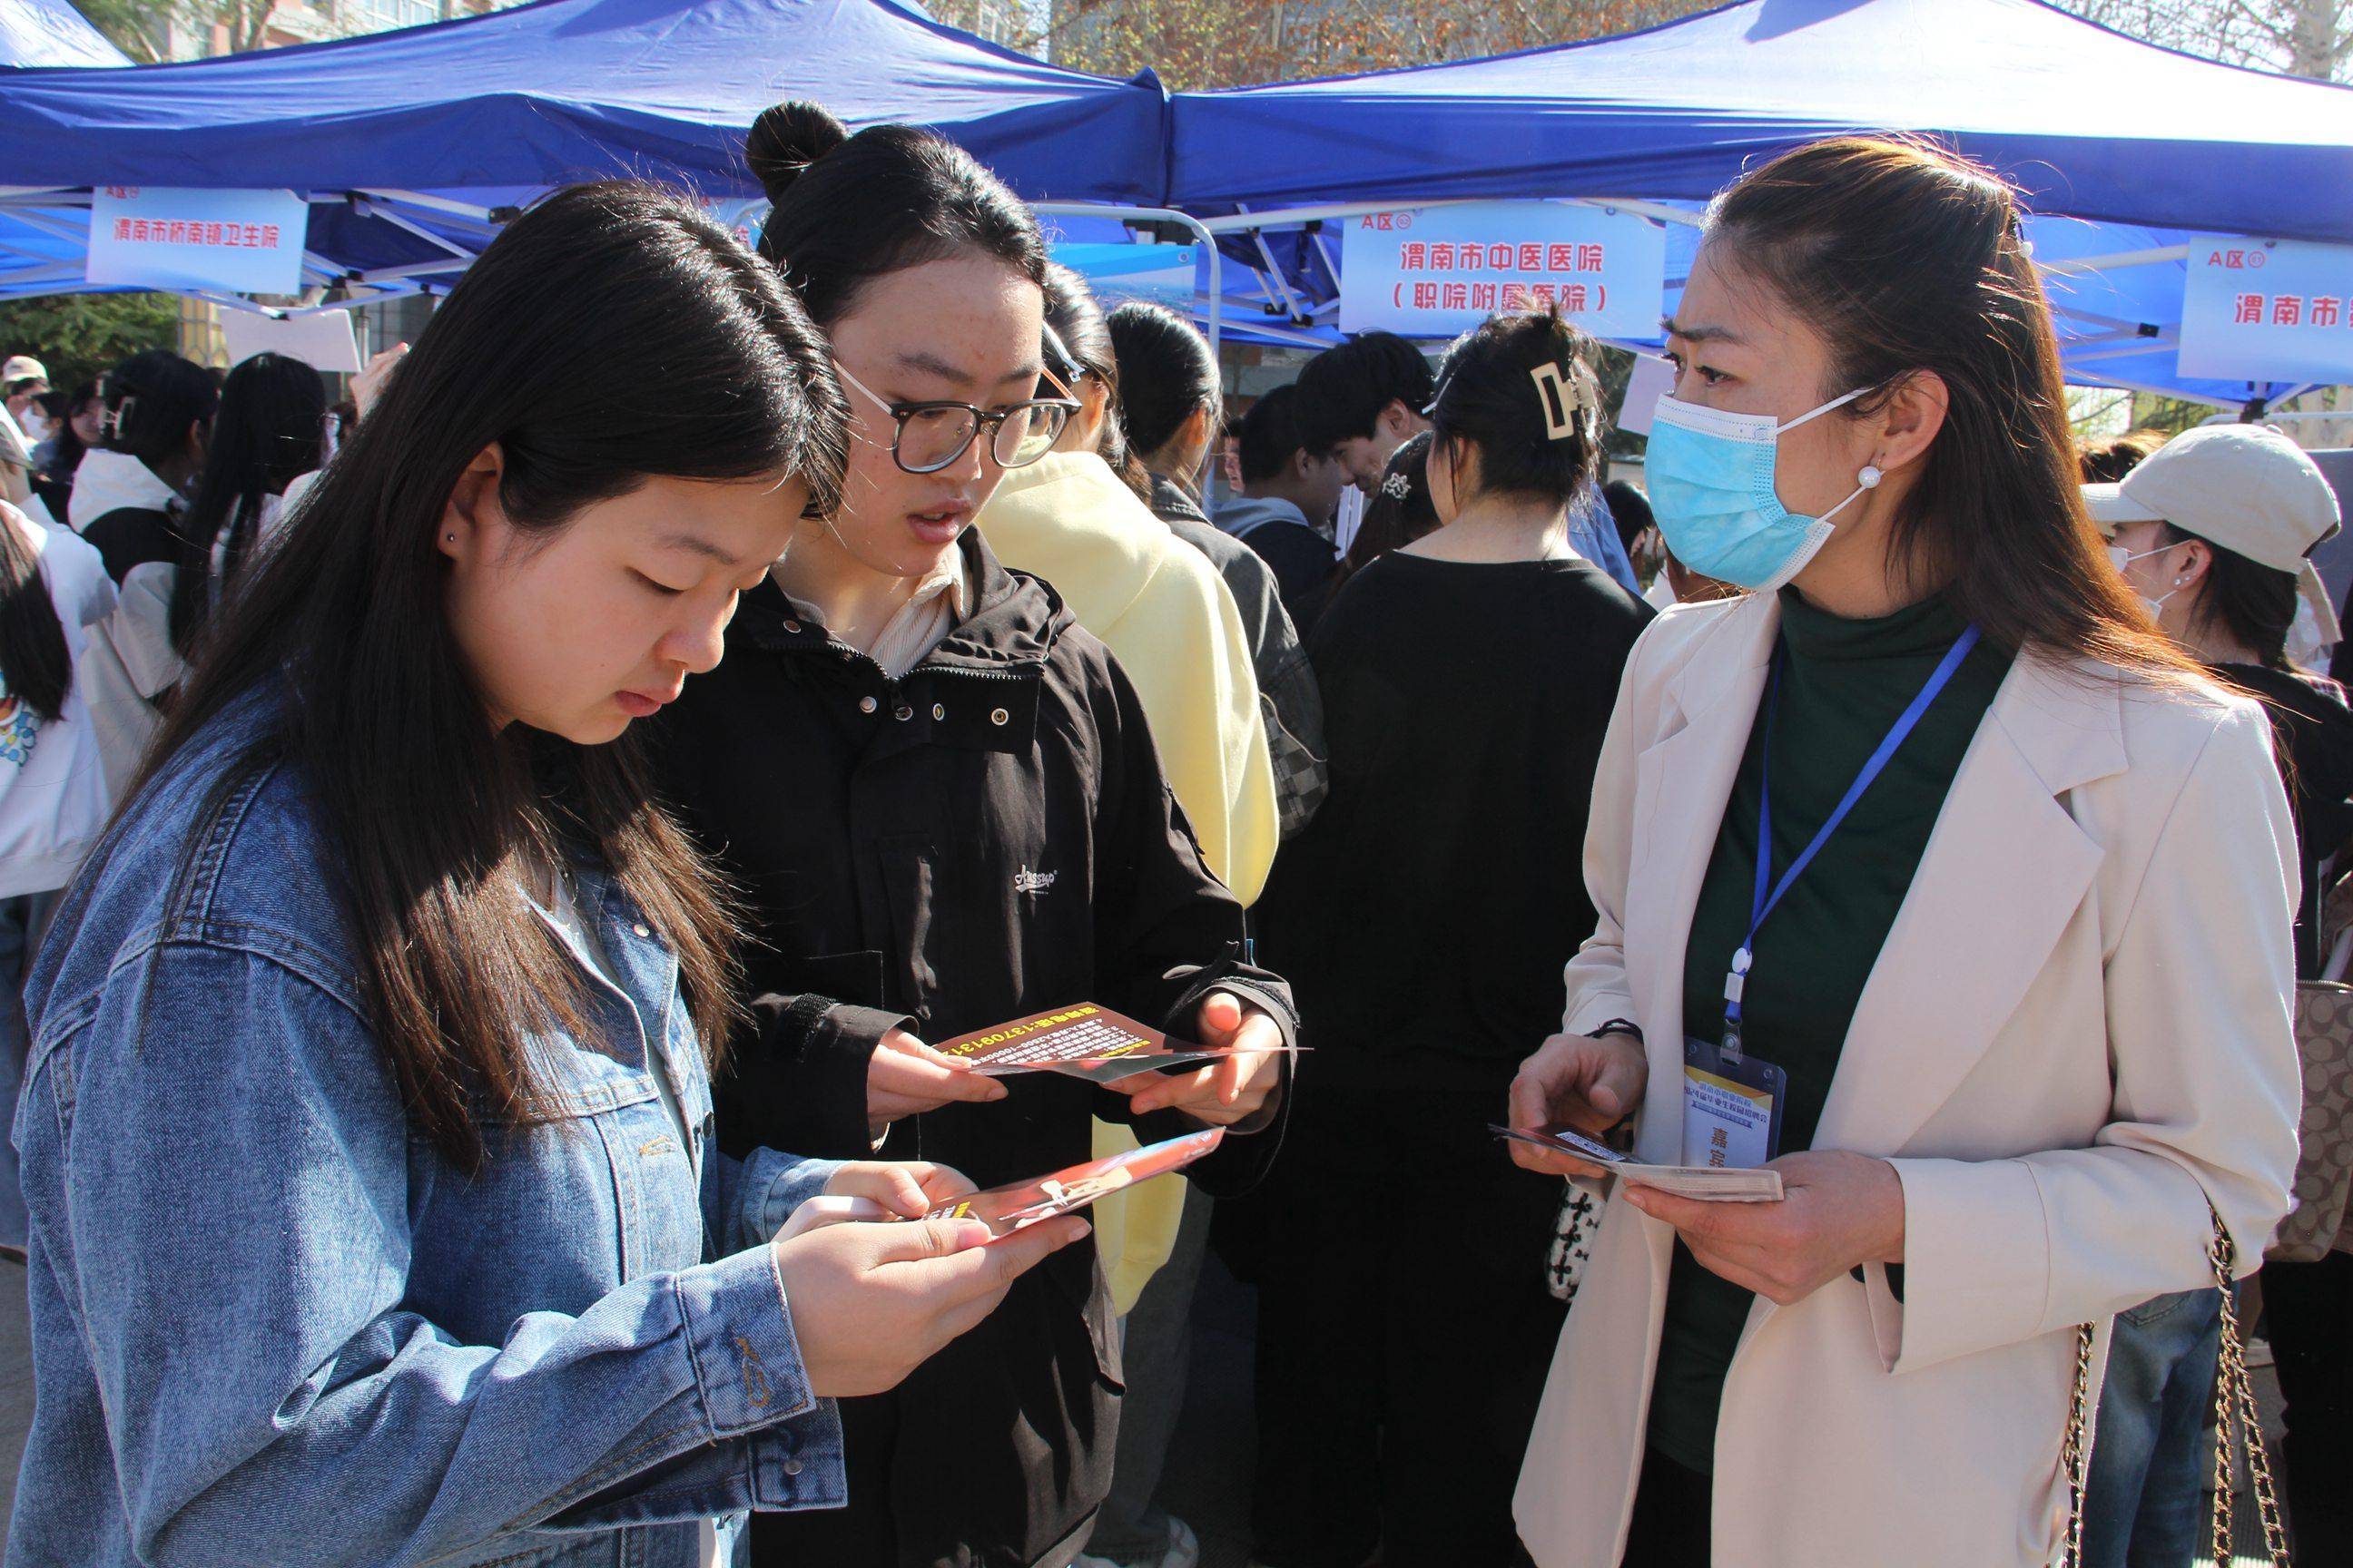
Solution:
[[[1579,202],[1464,202],[1341,219],[1341,331],[1447,339],[1499,310],[1560,313],[1605,339],[1652,339],[1666,230]]]

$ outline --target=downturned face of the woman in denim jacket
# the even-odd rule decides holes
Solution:
[[[720,661],[736,595],[784,552],[800,480],[647,480],[529,534],[487,498],[449,555],[449,630],[494,724],[600,745]],[[447,536],[445,536],[447,538]]]

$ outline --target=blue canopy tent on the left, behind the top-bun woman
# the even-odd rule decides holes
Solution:
[[[301,190],[306,282],[431,287],[555,183],[758,195],[744,132],[788,96],[939,127],[1028,197],[1160,190],[1158,85],[1059,71],[896,0],[539,0],[266,54],[9,73],[0,296],[82,287],[92,186]]]

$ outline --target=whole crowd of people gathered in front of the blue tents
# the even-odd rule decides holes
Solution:
[[[2304,451],[2085,449],[1908,141],[1718,197],[1640,487],[1553,310],[1231,411],[948,141],[746,162],[344,407],[0,369],[9,1563],[1193,1568],[1212,1253],[1264,1568],[2191,1561],[2353,952]],[[1212,1056],[939,1048],[1078,1001]],[[2259,1295],[2353,1561],[2353,1225]]]

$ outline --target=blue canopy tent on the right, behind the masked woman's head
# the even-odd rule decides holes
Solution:
[[[2353,242],[2353,89],[2040,0],[1744,0],[1586,45],[1176,94],[1169,200],[1261,268],[1278,322],[1325,336],[1339,244],[1306,221],[1584,197],[1685,230],[1744,167],[1854,129],[1934,134],[2049,214],[2031,237],[2073,376],[2228,404],[2301,390],[2177,374],[2184,256],[2195,233]],[[1671,280],[1678,254],[1671,233]]]

